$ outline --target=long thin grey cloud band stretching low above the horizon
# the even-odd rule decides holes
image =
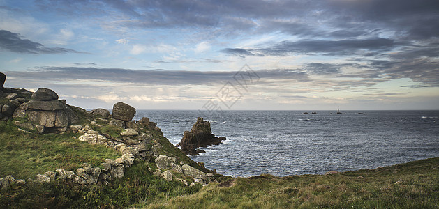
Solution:
[[[262,79],[306,81],[305,72],[294,69],[255,70]],[[160,85],[224,84],[233,81],[236,71],[129,70],[122,68],[40,67],[7,72],[8,77],[49,81],[84,80]]]

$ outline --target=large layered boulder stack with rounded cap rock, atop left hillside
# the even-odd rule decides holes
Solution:
[[[58,100],[58,95],[48,88],[38,88],[32,95],[34,100],[20,104],[15,109],[13,118],[29,118],[36,124],[39,133],[45,130],[65,132],[71,123],[76,123],[79,118],[65,101]]]

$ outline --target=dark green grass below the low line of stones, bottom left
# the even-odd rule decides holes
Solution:
[[[188,196],[201,185],[186,187],[151,175],[147,163],[135,161],[124,178],[110,185],[73,185],[54,181],[44,185],[14,185],[0,192],[0,208],[142,208],[151,203]]]

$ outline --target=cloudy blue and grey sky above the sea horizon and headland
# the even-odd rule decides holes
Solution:
[[[439,109],[439,1],[0,0],[0,72],[86,109]]]

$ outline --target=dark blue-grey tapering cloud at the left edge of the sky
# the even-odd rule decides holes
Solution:
[[[0,30],[0,48],[23,54],[84,53],[61,47],[45,47],[38,42],[22,39],[19,33],[12,33],[6,30]]]

